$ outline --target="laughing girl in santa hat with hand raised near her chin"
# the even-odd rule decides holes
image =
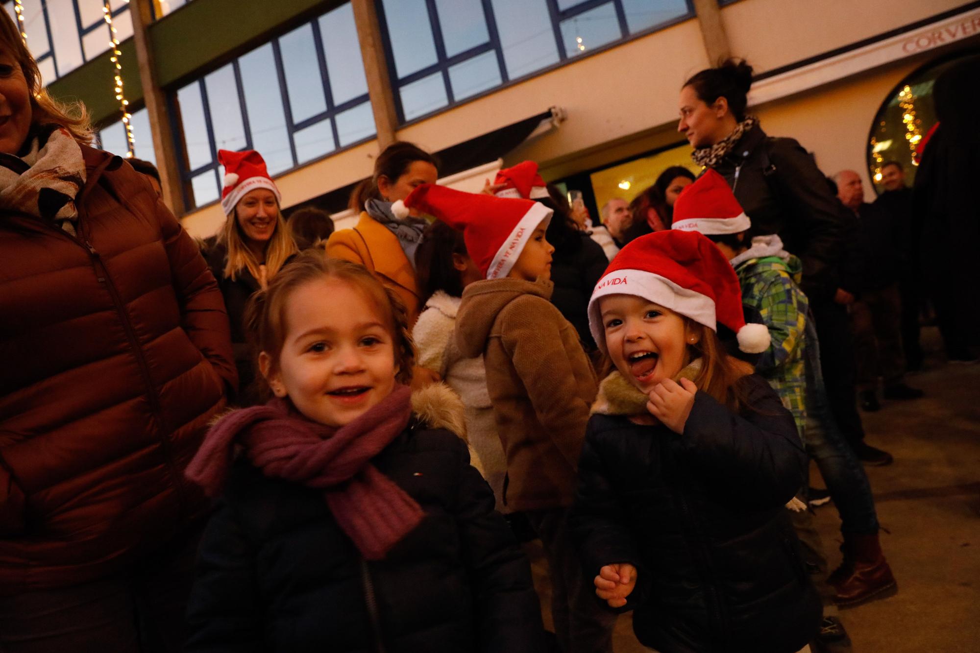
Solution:
[[[806,473],[793,416],[743,351],[738,279],[696,232],[626,245],[596,286],[590,325],[615,372],[589,421],[571,524],[596,594],[635,609],[662,653],[792,653],[820,621],[783,506]]]

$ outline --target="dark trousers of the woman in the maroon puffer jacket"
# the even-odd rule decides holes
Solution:
[[[201,527],[126,574],[0,598],[0,653],[178,653]]]

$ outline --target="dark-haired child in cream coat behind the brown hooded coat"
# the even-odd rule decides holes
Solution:
[[[440,222],[427,226],[416,250],[416,270],[422,311],[412,328],[412,338],[418,366],[445,379],[463,399],[466,439],[493,489],[497,510],[507,512],[503,502],[507,459],[497,435],[483,357],[466,358],[453,339],[463,290],[482,278],[466,253],[463,232]]]

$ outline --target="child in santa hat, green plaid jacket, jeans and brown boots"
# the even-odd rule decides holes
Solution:
[[[894,593],[896,581],[878,540],[870,483],[834,421],[823,388],[816,327],[799,285],[803,265],[783,249],[776,234],[750,240],[750,226],[728,183],[712,170],[685,188],[674,205],[672,227],[698,231],[717,245],[735,269],[742,301],[759,311],[772,336],[756,371],[793,413],[841,516],[845,564],[829,578],[834,586],[831,598],[852,605]],[[805,530],[800,532],[818,566],[824,568],[822,545],[809,541]]]

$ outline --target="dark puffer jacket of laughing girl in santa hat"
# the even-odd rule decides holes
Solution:
[[[806,454],[766,381],[739,382],[753,409],[738,416],[699,391],[682,435],[589,421],[573,532],[588,578],[637,568],[626,608],[637,638],[662,653],[792,653],[820,621],[784,507]]]

